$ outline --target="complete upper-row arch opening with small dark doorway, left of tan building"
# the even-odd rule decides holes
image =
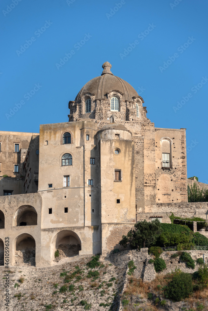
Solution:
[[[22,205],[15,212],[13,226],[37,225],[37,212],[31,205]]]

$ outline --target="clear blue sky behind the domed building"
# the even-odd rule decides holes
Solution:
[[[207,12],[206,0],[1,1],[0,130],[68,122],[69,100],[109,61],[155,127],[187,128],[188,177],[208,183]]]

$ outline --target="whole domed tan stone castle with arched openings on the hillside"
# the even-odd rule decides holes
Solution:
[[[155,128],[144,100],[102,65],[69,101],[69,122],[0,132],[0,264],[54,253],[106,256],[138,220],[203,216],[187,202],[186,129]],[[32,258],[32,259],[31,259]]]

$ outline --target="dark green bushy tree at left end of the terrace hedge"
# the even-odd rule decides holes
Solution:
[[[129,244],[130,248],[149,247],[151,243],[156,241],[161,232],[162,228],[158,219],[150,222],[139,221],[127,235],[122,236],[119,244],[125,247]]]

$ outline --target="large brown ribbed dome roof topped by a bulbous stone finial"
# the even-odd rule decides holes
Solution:
[[[79,102],[82,95],[88,92],[95,94],[95,99],[104,99],[106,98],[106,93],[110,93],[111,91],[119,91],[122,93],[124,101],[133,101],[132,97],[139,96],[128,82],[112,74],[110,63],[105,62],[102,68],[104,70],[101,76],[88,81],[79,91],[75,101]]]

